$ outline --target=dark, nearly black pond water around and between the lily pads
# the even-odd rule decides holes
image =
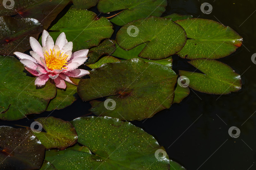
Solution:
[[[203,14],[201,3],[208,2],[213,10]],[[95,9],[92,8],[94,12]],[[228,25],[243,37],[243,45],[223,59],[242,77],[242,89],[228,95],[192,92],[180,104],[158,112],[146,121],[131,121],[153,135],[164,146],[168,156],[188,170],[252,170],[256,169],[256,1],[252,0],[172,0],[163,15],[192,14]],[[174,70],[193,69],[185,59],[174,56]],[[40,115],[29,115],[19,121],[0,121],[0,125],[30,126],[34,118],[54,116],[66,121],[79,116],[93,116],[90,104],[78,99],[69,107]],[[238,127],[238,138],[229,136],[230,127]]]

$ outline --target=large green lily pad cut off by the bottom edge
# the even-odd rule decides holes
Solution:
[[[79,117],[71,123],[77,129],[78,142],[91,153],[64,150],[46,155],[57,169],[169,169],[167,154],[155,138],[129,122],[111,117]],[[64,153],[64,154],[63,154]],[[165,152],[166,153],[166,152]],[[95,154],[95,155],[94,155]],[[161,154],[160,154],[161,156]],[[54,161],[55,160],[55,161]]]

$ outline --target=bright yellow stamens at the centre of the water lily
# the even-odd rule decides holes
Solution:
[[[48,69],[50,70],[54,70],[54,69],[61,70],[62,68],[67,69],[64,66],[67,63],[68,55],[65,54],[62,56],[64,52],[61,53],[61,51],[57,51],[56,53],[54,49],[53,51],[52,49],[50,49],[50,51],[51,51],[51,54],[49,54],[47,51],[46,51],[46,54],[44,54],[45,62]]]

